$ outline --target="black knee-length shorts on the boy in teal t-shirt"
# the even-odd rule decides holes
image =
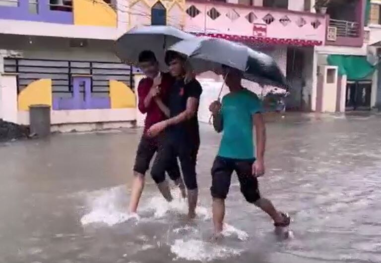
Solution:
[[[226,199],[233,171],[236,171],[241,192],[249,203],[260,199],[258,180],[253,176],[252,165],[255,159],[232,159],[217,156],[212,167],[212,197]]]

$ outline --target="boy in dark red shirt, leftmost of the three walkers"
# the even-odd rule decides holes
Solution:
[[[129,211],[135,213],[144,187],[144,175],[149,168],[149,163],[158,150],[163,140],[160,134],[156,137],[146,136],[146,131],[155,123],[167,119],[169,112],[165,112],[168,92],[174,79],[168,73],[159,71],[159,64],[156,56],[151,51],[143,51],[139,54],[139,65],[143,73],[147,76],[140,80],[137,87],[138,108],[142,113],[146,113],[144,122],[144,132],[140,139],[140,143],[136,152],[135,164],[133,167],[134,179],[132,183],[131,199],[129,203]],[[175,181],[180,187],[183,197],[185,198],[185,186],[180,175],[177,158],[171,160],[168,165],[167,173],[169,177]],[[164,181],[158,184],[159,189],[167,189],[168,182]],[[165,191],[161,191],[165,193]],[[167,201],[172,201],[172,196],[164,195]]]

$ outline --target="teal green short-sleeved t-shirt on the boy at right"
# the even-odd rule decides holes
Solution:
[[[224,96],[221,107],[223,135],[218,156],[255,158],[252,115],[258,112],[262,112],[261,101],[247,89]]]

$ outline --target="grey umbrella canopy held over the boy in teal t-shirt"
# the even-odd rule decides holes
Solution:
[[[241,70],[247,80],[261,85],[287,87],[282,71],[271,56],[240,43],[198,37],[180,41],[168,50],[187,55],[196,73],[221,73],[222,65],[226,65]]]

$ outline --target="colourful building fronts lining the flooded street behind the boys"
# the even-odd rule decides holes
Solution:
[[[381,2],[332,3],[326,14],[316,13],[314,2],[0,0],[0,118],[28,124],[29,106],[48,104],[57,127],[135,121],[139,76],[115,56],[114,41],[141,25],[172,25],[270,54],[290,83],[289,109],[377,105]],[[363,63],[373,58],[369,74],[350,73],[349,56]],[[207,119],[206,105],[218,96],[222,79],[199,78],[206,87],[200,108]],[[262,92],[254,83],[245,86]]]

